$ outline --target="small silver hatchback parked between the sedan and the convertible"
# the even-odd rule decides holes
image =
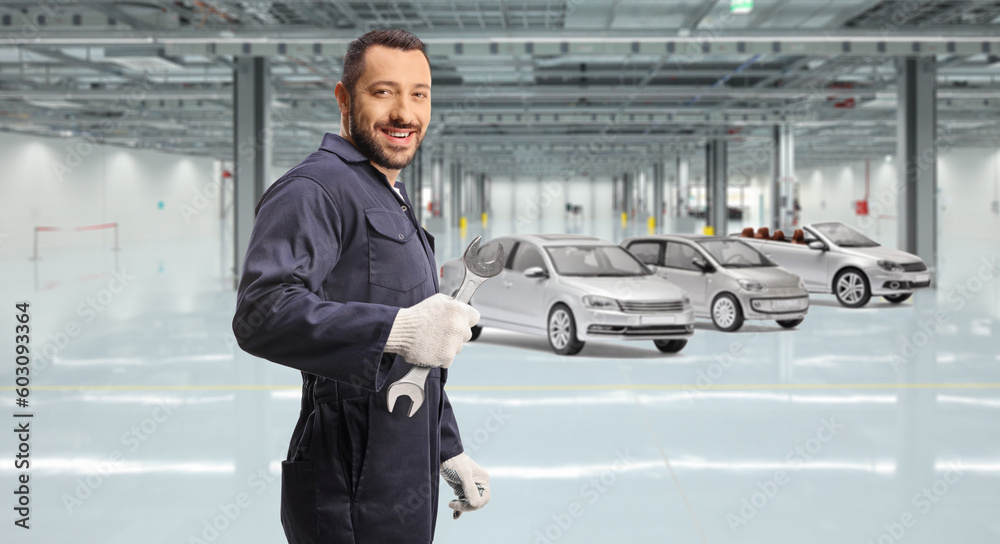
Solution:
[[[711,317],[719,330],[735,331],[746,319],[792,328],[809,311],[802,278],[740,240],[661,234],[627,238],[622,246],[687,291],[695,314]]]

